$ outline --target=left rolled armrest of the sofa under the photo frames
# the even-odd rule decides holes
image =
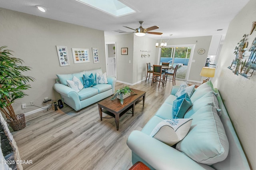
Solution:
[[[61,95],[72,98],[74,101],[80,101],[77,92],[75,92],[72,88],[65,86],[64,84],[55,83],[53,88]]]

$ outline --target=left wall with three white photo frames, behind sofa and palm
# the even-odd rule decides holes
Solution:
[[[60,99],[54,92],[56,74],[66,74],[102,68],[106,72],[106,57],[104,47],[104,31],[86,28],[78,25],[32,16],[20,12],[0,8],[0,46],[8,46],[13,50],[14,57],[23,59],[26,66],[32,67],[25,72],[36,78],[31,82],[31,89],[26,90],[28,96],[16,100],[16,114],[27,113],[38,107],[21,109],[21,104],[43,107],[45,97]],[[66,46],[70,66],[60,66],[56,45]],[[93,63],[92,47],[98,48],[100,63]],[[74,64],[71,48],[89,49],[90,63]]]

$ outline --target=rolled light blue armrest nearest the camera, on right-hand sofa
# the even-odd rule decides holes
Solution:
[[[141,131],[132,131],[127,145],[144,163],[157,170],[213,170]]]

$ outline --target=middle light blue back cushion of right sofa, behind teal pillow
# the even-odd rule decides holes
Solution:
[[[219,108],[217,97],[215,95],[215,92],[211,91],[206,93],[204,96],[202,96],[198,100],[196,100],[193,103],[193,106],[188,109],[184,118],[189,118],[191,115],[196,113],[196,111],[198,111],[201,107],[204,107],[207,104],[212,104],[212,106],[216,108],[218,115],[220,116],[221,109]]]

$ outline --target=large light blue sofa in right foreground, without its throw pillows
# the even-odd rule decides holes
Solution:
[[[132,131],[127,140],[132,164],[138,161],[154,170],[250,170],[220,93],[210,81],[190,97],[192,106],[185,118],[192,118],[188,134],[174,146],[151,137],[164,119],[172,119],[172,104],[180,87],[174,86],[156,114],[142,131]]]

